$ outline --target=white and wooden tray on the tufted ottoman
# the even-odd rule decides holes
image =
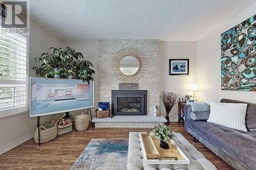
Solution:
[[[172,140],[169,149],[160,147],[160,140],[149,133],[139,133],[142,142],[142,151],[147,164],[190,164],[189,159]]]

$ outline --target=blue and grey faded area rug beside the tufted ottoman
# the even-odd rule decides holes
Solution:
[[[127,169],[128,139],[91,139],[72,170]]]

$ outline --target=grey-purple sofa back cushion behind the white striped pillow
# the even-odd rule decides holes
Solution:
[[[256,132],[256,104],[241,102],[231,99],[222,99],[222,103],[246,103],[247,104],[247,113],[246,113],[246,126],[249,131]]]

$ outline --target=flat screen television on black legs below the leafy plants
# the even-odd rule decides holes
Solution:
[[[94,83],[75,79],[30,78],[30,117],[94,107]]]

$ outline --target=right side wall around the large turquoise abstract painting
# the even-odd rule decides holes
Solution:
[[[222,98],[256,103],[256,92],[221,90],[221,33],[255,15],[256,3],[228,20],[224,25],[197,41],[198,98],[205,102]]]

